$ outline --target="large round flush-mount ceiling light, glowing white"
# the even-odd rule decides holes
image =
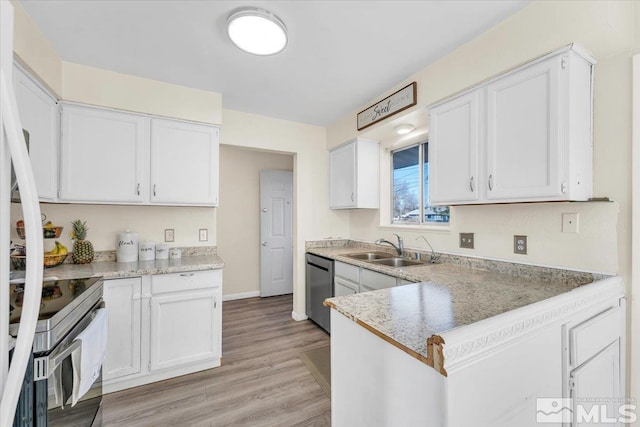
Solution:
[[[273,13],[243,7],[227,18],[227,34],[239,49],[254,55],[274,55],[287,46],[287,27]]]

